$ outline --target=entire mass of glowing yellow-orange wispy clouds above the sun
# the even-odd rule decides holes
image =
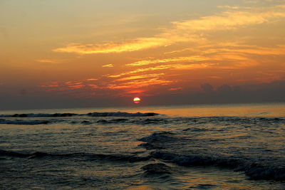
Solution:
[[[219,8],[220,12],[212,16],[172,22],[170,27],[157,29],[157,34],[149,38],[133,38],[127,41],[106,43],[70,43],[67,46],[56,48],[53,51],[84,55],[124,53],[165,47],[160,51],[153,51],[152,58],[133,58],[132,61],[126,59],[128,64],[125,65],[128,67],[125,68],[120,67],[123,61],[120,61],[120,64],[115,63],[118,64],[120,70],[110,70],[116,73],[108,73],[102,77],[82,81],[43,85],[42,87],[60,90],[90,90],[91,92],[96,91],[98,94],[97,91],[100,90],[105,90],[104,93],[110,93],[110,90],[142,93],[147,92],[153,86],[168,85],[165,87],[166,91],[173,91],[172,93],[177,91],[179,93],[185,86],[181,85],[179,80],[175,80],[172,75],[188,72],[180,72],[181,70],[218,69],[220,73],[211,73],[210,70],[199,71],[203,80],[217,80],[224,78],[224,70],[236,69],[242,73],[244,68],[261,65],[261,58],[266,58],[264,56],[285,55],[284,45],[271,47],[249,45],[256,43],[250,41],[251,39],[248,40],[251,38],[250,36],[242,36],[243,34],[238,31],[239,28],[276,23],[282,19],[284,21],[285,6],[257,8],[219,6]],[[220,38],[221,35],[227,35],[227,33],[233,33],[234,38],[232,36]],[[240,36],[242,38],[239,38]],[[138,54],[134,53],[134,55]],[[48,61],[52,63],[52,60],[41,60],[39,62],[48,63]],[[113,64],[102,65],[106,69],[113,66]],[[181,78],[190,81],[191,76],[185,77],[184,74],[181,74]]]

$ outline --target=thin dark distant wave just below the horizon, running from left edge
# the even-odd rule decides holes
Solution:
[[[89,116],[89,117],[148,117],[159,115],[154,112],[147,113],[129,113],[129,112],[89,112],[87,114],[76,114],[76,113],[28,113],[28,114],[14,114],[14,115],[0,115],[0,117],[73,117],[73,116]]]

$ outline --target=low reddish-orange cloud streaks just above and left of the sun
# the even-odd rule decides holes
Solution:
[[[161,78],[164,73],[147,74],[147,75],[133,75],[126,78],[118,78],[116,80],[104,81],[102,78],[97,80],[77,80],[66,82],[52,82],[40,85],[42,90],[46,93],[55,93],[57,95],[68,94],[71,97],[81,96],[90,97],[90,95],[111,95],[115,96],[118,93],[110,94],[110,90],[121,90],[121,92],[131,94],[132,92],[145,92],[148,87],[155,87],[156,85],[169,85],[175,83],[174,80]],[[105,78],[104,78],[105,79]],[[123,90],[123,91],[122,91]],[[120,93],[120,92],[119,92]],[[120,93],[120,96],[125,96]]]

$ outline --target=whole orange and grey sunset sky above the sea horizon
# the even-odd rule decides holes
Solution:
[[[239,102],[285,102],[284,0],[0,0],[0,110]]]

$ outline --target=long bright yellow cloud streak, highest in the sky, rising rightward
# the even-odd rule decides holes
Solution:
[[[122,53],[141,51],[148,48],[169,46],[180,42],[199,42],[206,40],[203,32],[228,31],[261,23],[276,22],[285,17],[285,7],[269,6],[246,10],[238,7],[224,6],[229,11],[220,14],[204,16],[199,19],[172,22],[172,27],[161,30],[155,36],[135,38],[121,43],[70,43],[63,48],[53,51],[62,53],[94,54],[94,53]]]

